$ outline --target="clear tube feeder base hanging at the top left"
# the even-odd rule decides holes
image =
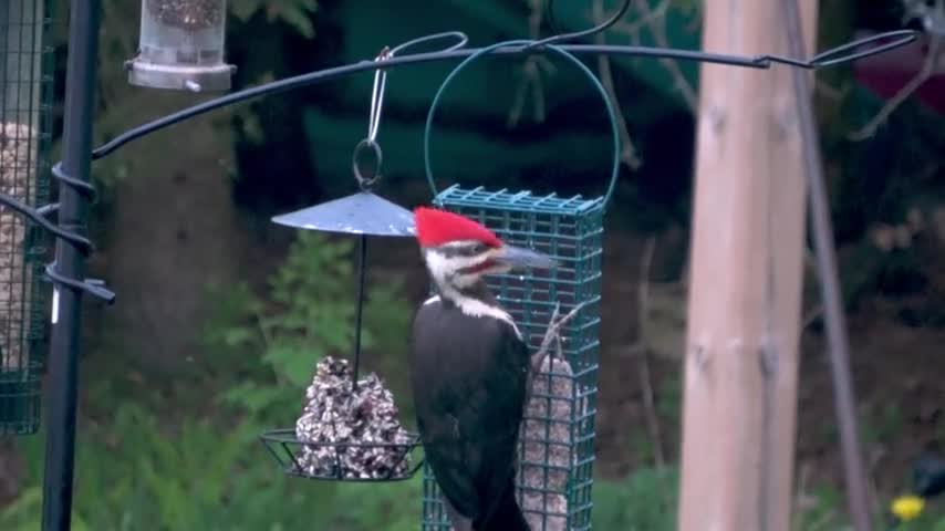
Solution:
[[[176,91],[227,91],[226,0],[142,0],[138,55],[128,82]]]

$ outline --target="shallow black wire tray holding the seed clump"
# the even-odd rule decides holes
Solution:
[[[413,433],[409,434],[408,442],[303,442],[291,428],[273,429],[260,435],[259,438],[282,471],[287,476],[297,478],[351,482],[404,481],[413,478],[424,465],[423,459],[411,461],[414,449],[422,446],[419,436]],[[307,448],[314,451],[330,451],[333,454],[334,464],[325,469],[312,470],[300,459]],[[393,466],[375,469],[374,471],[380,473],[368,477],[352,477],[346,473],[343,462],[349,454],[371,454],[378,450],[393,451],[395,456],[391,461]]]

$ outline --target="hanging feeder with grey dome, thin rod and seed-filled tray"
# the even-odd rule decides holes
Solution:
[[[398,481],[412,478],[422,466],[411,462],[419,438],[401,427],[390,391],[383,388],[375,375],[359,381],[367,237],[414,236],[413,214],[371,191],[381,168],[381,148],[375,137],[384,75],[378,71],[375,76],[367,138],[354,149],[353,170],[361,191],[273,218],[277,223],[298,229],[359,235],[354,367],[349,369],[346,361],[332,357],[320,362],[295,429],[261,436],[290,476],[333,481]],[[363,156],[373,158],[375,167],[370,178],[362,170]]]

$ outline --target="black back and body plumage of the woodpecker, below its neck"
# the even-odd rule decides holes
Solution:
[[[498,308],[477,288],[476,300]],[[417,429],[454,528],[528,531],[515,498],[527,345],[510,322],[439,299],[417,312],[412,356]]]

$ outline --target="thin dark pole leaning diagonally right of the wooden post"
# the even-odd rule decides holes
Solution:
[[[787,27],[788,52],[802,54],[803,31],[801,29],[798,0],[782,2]],[[809,77],[799,69],[791,72],[795,96],[798,101],[798,121],[803,145],[807,173],[810,220],[813,226],[813,247],[820,277],[821,300],[824,309],[830,368],[833,377],[834,406],[840,425],[840,447],[843,455],[843,472],[847,483],[847,503],[853,529],[871,531],[870,500],[866,491],[866,472],[863,469],[863,450],[856,421],[856,399],[853,393],[853,376],[850,371],[850,342],[840,296],[837,273],[837,257],[833,248],[833,227],[830,221],[830,205],[821,164],[820,138],[811,103],[813,90]]]

